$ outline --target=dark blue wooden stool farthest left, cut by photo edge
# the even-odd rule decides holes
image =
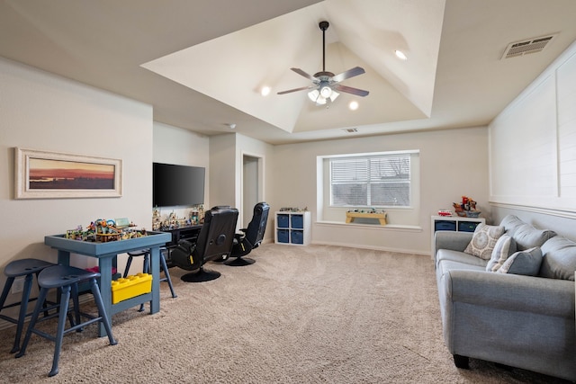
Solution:
[[[14,260],[14,262],[8,263],[4,268],[4,275],[6,275],[7,280],[4,284],[4,290],[2,290],[2,296],[0,296],[0,312],[4,308],[12,308],[20,305],[20,312],[18,318],[0,314],[0,318],[16,324],[16,336],[14,337],[14,345],[12,347],[12,350],[10,350],[10,353],[16,353],[20,350],[20,338],[22,336],[24,319],[25,317],[31,315],[30,313],[28,313],[28,303],[38,299],[38,298],[30,298],[33,276],[36,275],[36,280],[38,280],[38,274],[44,268],[53,265],[56,264],[45,262],[39,259],[21,259],[21,260]],[[25,278],[24,278],[24,287],[22,291],[21,301],[19,303],[17,302],[14,304],[4,306],[6,298],[10,293],[10,289],[14,284],[14,280],[17,277],[22,276],[25,276]],[[48,315],[48,312],[47,311],[44,312],[44,315],[45,316]]]

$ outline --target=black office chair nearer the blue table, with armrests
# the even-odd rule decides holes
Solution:
[[[220,272],[207,271],[203,264],[213,260],[226,260],[232,250],[238,210],[229,206],[218,206],[204,215],[204,224],[196,243],[180,240],[171,253],[172,263],[186,271],[180,279],[186,282],[211,281],[220,277]]]

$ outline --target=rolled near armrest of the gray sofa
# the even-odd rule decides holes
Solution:
[[[518,274],[452,270],[446,299],[475,306],[574,317],[574,282]]]

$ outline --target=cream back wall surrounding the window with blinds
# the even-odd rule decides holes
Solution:
[[[420,152],[420,211],[417,228],[354,226],[319,223],[317,156],[418,149]],[[488,131],[486,127],[435,132],[347,138],[275,147],[274,193],[269,201],[280,207],[308,207],[312,212],[312,243],[360,246],[399,252],[430,253],[430,216],[451,209],[462,195],[478,201],[490,219],[488,204]],[[344,222],[345,218],[342,218]]]

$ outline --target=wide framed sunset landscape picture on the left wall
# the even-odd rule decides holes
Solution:
[[[121,159],[16,147],[15,199],[121,197]]]

